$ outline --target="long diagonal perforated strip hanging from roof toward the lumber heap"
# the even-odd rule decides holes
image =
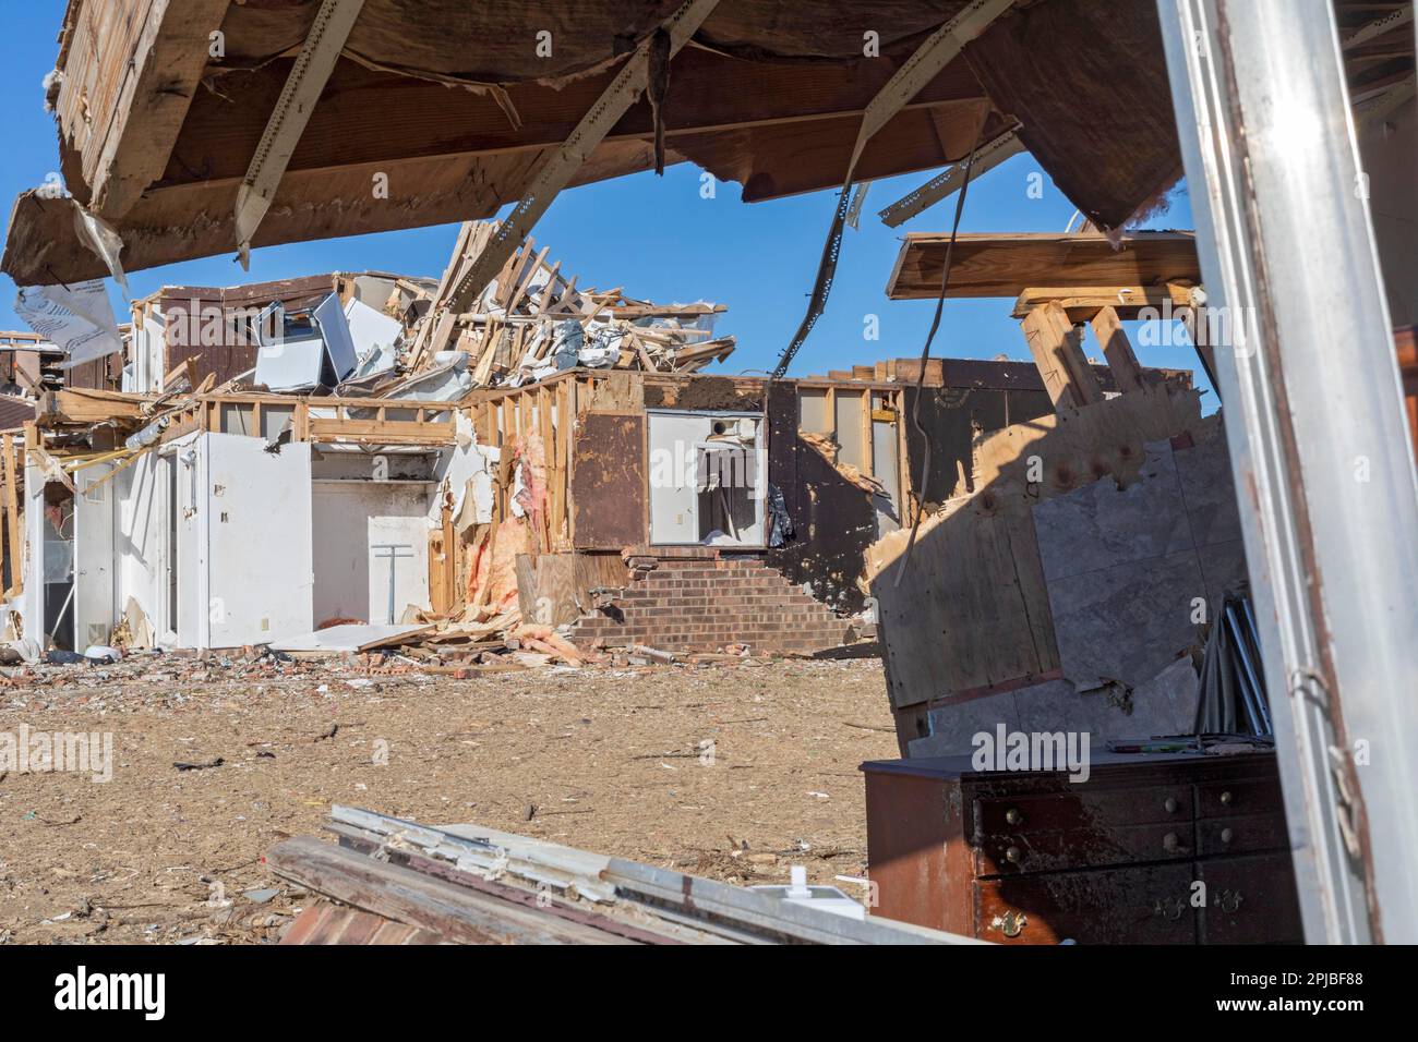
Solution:
[[[689,41],[718,3],[719,0],[688,0],[665,21],[662,28],[669,34],[671,58]],[[571,135],[537,170],[526,194],[508,214],[508,218],[498,225],[482,252],[452,286],[448,305],[451,310],[468,310],[472,301],[502,271],[512,252],[552,206],[557,193],[571,183],[576,172],[581,169],[596,146],[625,115],[635,99],[644,94],[649,82],[649,57],[654,38],[652,34],[637,48],[615,79],[571,130]]]

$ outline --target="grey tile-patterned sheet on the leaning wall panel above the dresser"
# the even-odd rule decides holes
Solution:
[[[1151,442],[1137,479],[1105,478],[1032,508],[1061,679],[929,710],[910,756],[970,753],[998,722],[1113,739],[1190,732],[1207,618],[1245,581],[1225,438]]]

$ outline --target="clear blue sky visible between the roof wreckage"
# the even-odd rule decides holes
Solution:
[[[58,169],[57,130],[44,112],[41,81],[54,64],[62,0],[7,3],[0,31],[0,125],[7,156],[0,163],[0,213],[9,221],[11,200]],[[906,231],[947,231],[954,200],[936,204],[900,228],[888,228],[876,211],[934,172],[906,174],[871,186],[861,230],[847,230],[837,281],[827,312],[804,344],[793,374],[847,369],[876,359],[920,353],[933,302],[888,301],[885,288]],[[1044,176],[1042,197],[1028,193],[1029,176],[1041,173],[1028,155],[1015,156],[970,187],[963,231],[1062,231],[1073,206]],[[539,245],[580,285],[624,286],[631,296],[657,302],[709,299],[729,312],[720,333],[739,347],[718,371],[771,369],[787,346],[811,291],[822,240],[835,206],[835,191],[818,191],[769,203],[744,204],[739,186],[716,184],[713,198],[700,197],[699,170],[688,163],[664,177],[644,173],[563,191],[533,230]],[[1178,193],[1171,210],[1149,227],[1190,228],[1191,210]],[[251,274],[242,275],[233,254],[129,274],[135,296],[162,285],[234,285],[311,275],[323,271],[397,271],[434,275],[442,271],[457,225],[294,242],[257,250]],[[112,286],[115,312],[128,308]],[[13,310],[14,285],[0,276],[0,327],[23,329]],[[947,301],[932,353],[937,357],[1027,357],[1024,337],[1010,319],[1010,301]],[[864,337],[865,316],[879,319],[879,340]],[[1134,337],[1136,342],[1136,337]],[[1089,352],[1098,354],[1089,344]],[[1194,369],[1185,346],[1137,349],[1143,364]],[[1204,383],[1198,373],[1198,383]],[[1211,396],[1208,396],[1210,398]],[[1214,401],[1211,403],[1214,405]]]

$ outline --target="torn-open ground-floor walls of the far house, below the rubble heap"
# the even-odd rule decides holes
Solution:
[[[947,499],[978,431],[1049,410],[1004,362],[440,393],[45,393],[6,435],[11,631],[223,648],[522,620],[588,649],[817,651],[855,632],[866,549],[905,503]]]

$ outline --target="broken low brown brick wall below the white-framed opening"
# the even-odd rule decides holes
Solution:
[[[821,651],[847,638],[847,620],[760,557],[655,547],[627,560],[630,584],[613,605],[574,624],[574,642],[603,648],[645,644],[681,652],[746,644],[757,654]]]

